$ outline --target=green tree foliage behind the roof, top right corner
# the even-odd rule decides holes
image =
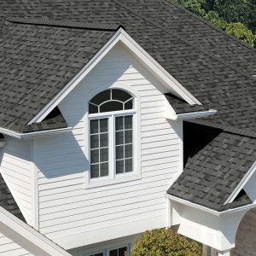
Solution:
[[[173,0],[245,43],[256,46],[256,0]]]

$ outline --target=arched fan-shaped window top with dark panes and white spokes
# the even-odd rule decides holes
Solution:
[[[125,90],[103,90],[89,102],[89,113],[104,113],[133,108],[133,97]]]

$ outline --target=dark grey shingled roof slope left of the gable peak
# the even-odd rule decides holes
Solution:
[[[0,38],[0,126],[33,130],[27,122],[114,32],[6,21]]]

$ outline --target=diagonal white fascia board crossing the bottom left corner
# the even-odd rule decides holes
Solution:
[[[45,253],[55,256],[71,256],[63,248],[59,247],[53,241],[50,241],[46,236],[40,234],[37,230],[34,230],[31,226],[21,221],[15,215],[6,211],[3,207],[0,207],[0,219],[3,224],[14,230],[20,236],[26,238],[27,241],[32,242],[35,246],[41,248]],[[1,230],[0,230],[1,231]]]

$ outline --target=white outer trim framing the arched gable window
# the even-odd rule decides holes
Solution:
[[[125,86],[126,87],[126,86]],[[136,181],[142,178],[142,172],[141,172],[141,140],[140,140],[140,132],[141,132],[141,120],[140,120],[140,100],[137,96],[135,96],[135,93],[133,93],[133,90],[127,90],[123,86],[115,87],[111,86],[110,88],[104,88],[104,86],[101,86],[101,88],[98,88],[93,94],[90,96],[87,96],[85,99],[85,106],[84,106],[84,134],[85,134],[85,142],[84,142],[84,154],[89,160],[89,166],[88,166],[88,172],[85,173],[85,183],[84,183],[84,189],[93,189],[97,187],[103,187],[108,186],[112,184],[118,184],[118,183],[126,183],[131,181]],[[130,86],[128,86],[130,87]],[[121,110],[121,111],[113,111],[113,112],[106,112],[106,113],[91,113],[89,114],[89,102],[90,99],[93,96],[96,96],[96,94],[102,92],[102,90],[108,90],[108,89],[119,89],[119,90],[125,90],[128,93],[131,93],[131,96],[133,96],[133,109],[129,110]],[[99,177],[90,180],[90,119],[96,119],[96,118],[103,118],[107,117],[108,115],[115,114],[115,115],[129,115],[133,114],[133,172],[125,173],[125,174],[119,174],[115,176],[115,170],[109,169],[109,172],[112,172],[111,175],[108,177]],[[113,130],[114,131],[114,127]],[[87,136],[86,136],[87,135]],[[109,142],[109,148],[114,145],[114,142],[110,144]],[[114,157],[114,155],[113,155]],[[115,157],[113,158],[113,164],[115,165]],[[95,180],[95,181],[94,181]]]

